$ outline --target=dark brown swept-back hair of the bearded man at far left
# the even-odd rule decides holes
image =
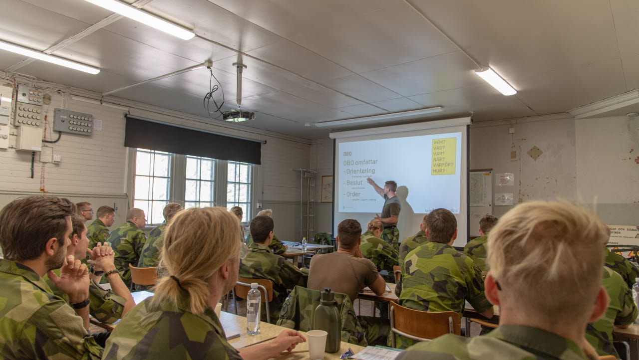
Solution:
[[[0,211],[0,246],[5,259],[36,259],[52,237],[63,244],[66,217],[75,210],[73,202],[54,196],[35,195],[10,202]]]

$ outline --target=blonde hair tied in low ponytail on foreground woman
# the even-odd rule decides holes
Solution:
[[[174,216],[167,226],[153,304],[178,306],[181,290],[189,293],[190,312],[209,307],[208,280],[229,259],[238,257],[242,234],[238,219],[224,207],[193,207]],[[178,282],[179,281],[179,282]]]

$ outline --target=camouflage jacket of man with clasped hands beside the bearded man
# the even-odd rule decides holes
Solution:
[[[53,272],[60,276],[60,269],[56,269]],[[69,302],[69,297],[58,289],[56,285],[53,285],[53,281],[49,280],[49,276],[45,275],[43,279],[47,281],[47,285],[56,296],[67,303]],[[89,304],[91,316],[105,324],[113,324],[122,319],[122,311],[124,311],[124,306],[127,304],[127,300],[124,297],[115,294],[111,290],[102,289],[100,285],[93,281],[89,285],[89,301],[91,301]]]

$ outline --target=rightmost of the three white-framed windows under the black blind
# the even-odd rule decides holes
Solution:
[[[226,170],[226,207],[231,209],[233,206],[242,207],[242,222],[248,221],[250,216],[252,183],[252,166],[249,163],[238,163],[228,161]]]

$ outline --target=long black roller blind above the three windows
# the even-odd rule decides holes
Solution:
[[[260,142],[127,116],[124,146],[261,164]]]

